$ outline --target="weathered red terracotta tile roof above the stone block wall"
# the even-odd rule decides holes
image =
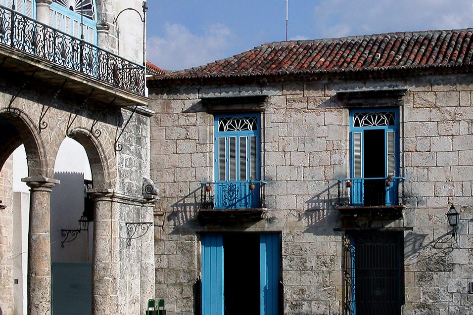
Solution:
[[[150,80],[345,73],[472,65],[473,28],[266,43]]]

